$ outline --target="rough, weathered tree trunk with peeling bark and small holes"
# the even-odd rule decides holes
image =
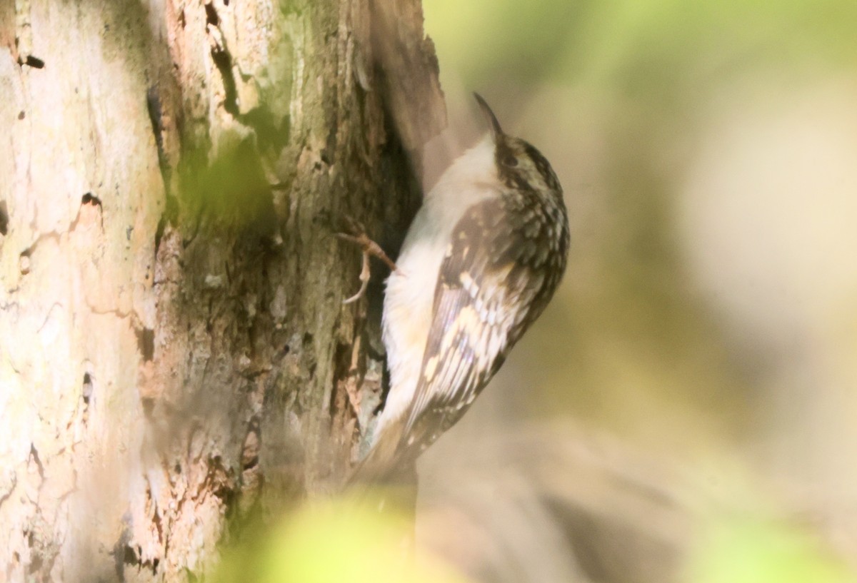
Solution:
[[[394,250],[444,116],[418,0],[0,3],[0,580],[185,580],[336,489],[383,347],[333,233]]]

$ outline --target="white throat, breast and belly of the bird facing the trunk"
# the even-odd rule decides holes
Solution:
[[[390,392],[375,440],[385,426],[407,413],[413,400],[434,316],[434,289],[452,229],[470,206],[499,193],[494,143],[487,137],[440,176],[408,229],[396,260],[398,269],[387,278],[384,297]]]

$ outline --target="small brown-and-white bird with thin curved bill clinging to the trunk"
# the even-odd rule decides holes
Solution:
[[[425,197],[387,279],[390,392],[358,479],[416,459],[461,418],[566,269],[568,218],[554,170],[476,101],[490,133]]]

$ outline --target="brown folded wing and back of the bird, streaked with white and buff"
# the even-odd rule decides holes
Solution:
[[[565,271],[565,207],[531,192],[474,205],[452,232],[401,458],[454,425],[541,314]]]

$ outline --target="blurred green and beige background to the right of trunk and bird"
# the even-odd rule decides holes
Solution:
[[[857,580],[857,3],[424,0],[565,188],[565,281],[423,456],[474,581]]]

